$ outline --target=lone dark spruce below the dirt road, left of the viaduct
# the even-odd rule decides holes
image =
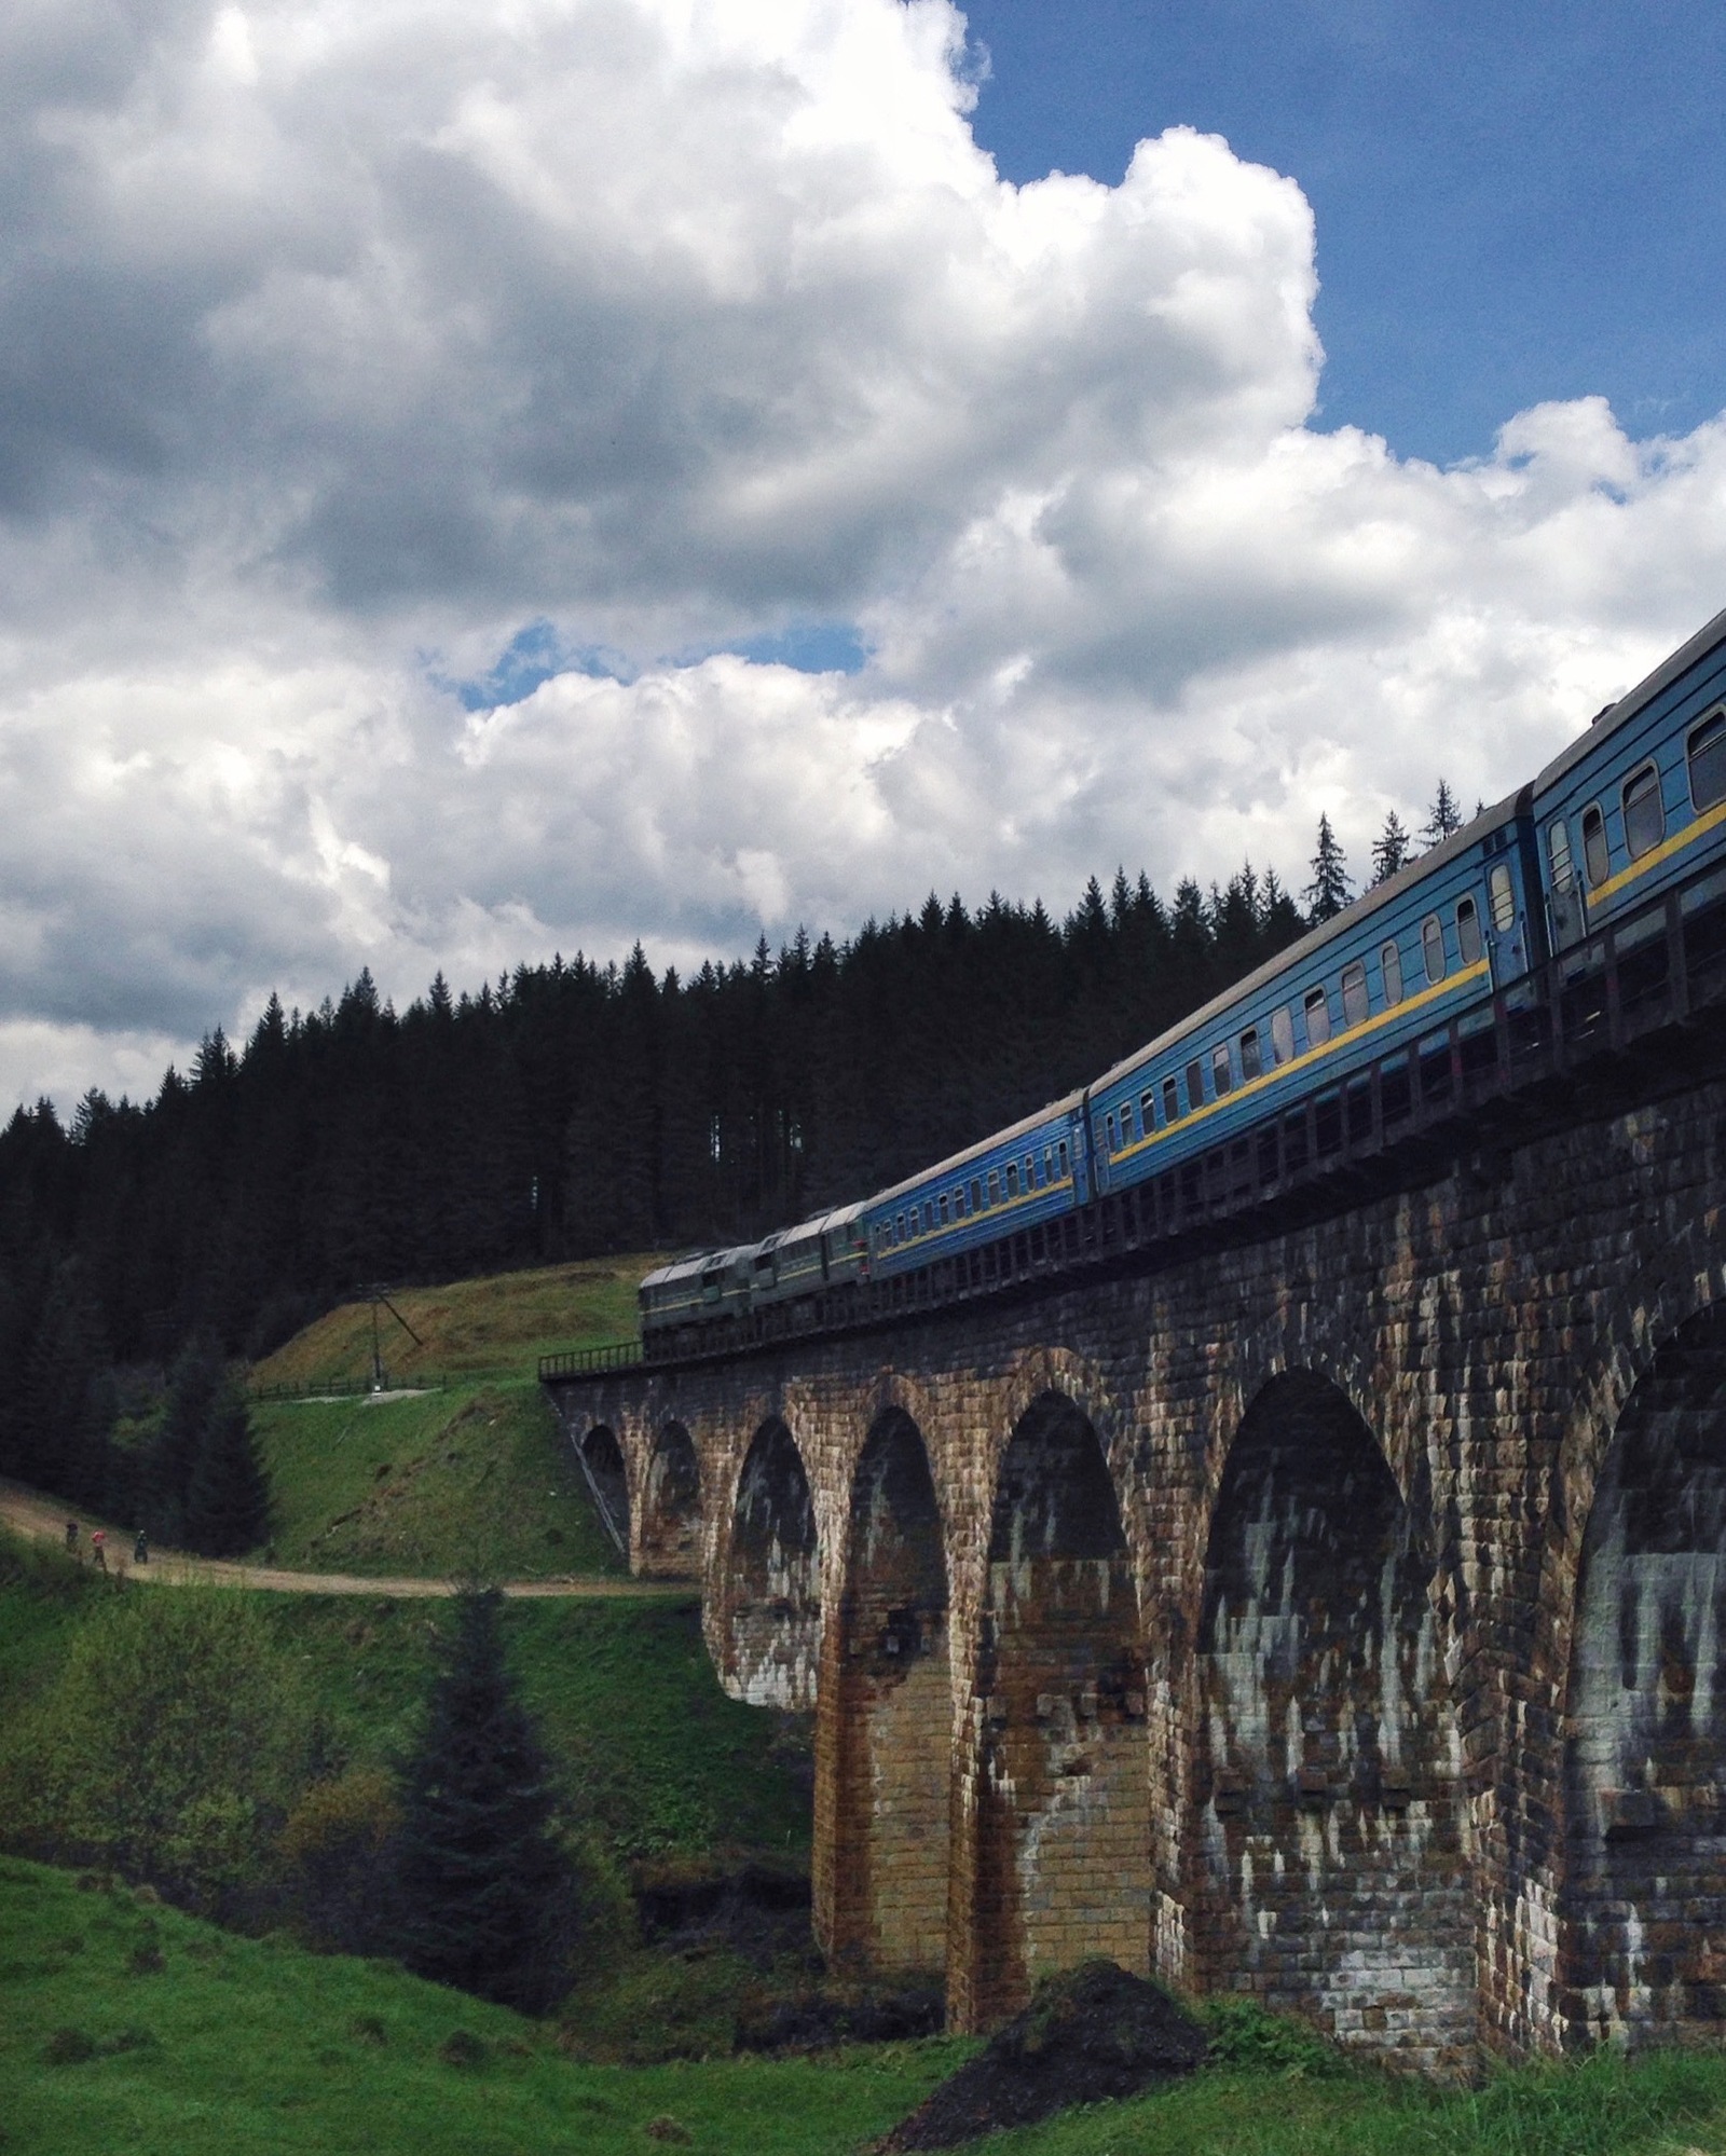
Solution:
[[[550,1764],[503,1660],[496,1589],[464,1589],[401,1774],[397,1953],[524,2014],[570,1981],[574,1880]]]

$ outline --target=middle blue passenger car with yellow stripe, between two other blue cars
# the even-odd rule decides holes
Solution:
[[[1396,1050],[1491,1024],[1545,955],[1528,789],[1478,815],[1090,1089],[1098,1190],[1120,1190]]]

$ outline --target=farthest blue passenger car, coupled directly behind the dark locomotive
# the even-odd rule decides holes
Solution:
[[[872,1197],[863,1207],[869,1272],[876,1281],[917,1272],[1055,1220],[1087,1199],[1085,1095],[1068,1093]]]

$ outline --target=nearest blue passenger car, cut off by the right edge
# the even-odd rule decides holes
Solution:
[[[1726,612],[1534,780],[1551,942],[1691,882],[1726,841]]]

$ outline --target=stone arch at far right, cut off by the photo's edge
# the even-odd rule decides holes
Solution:
[[[1726,1311],[1629,1391],[1581,1539],[1564,1714],[1569,2040],[1726,2035]]]

